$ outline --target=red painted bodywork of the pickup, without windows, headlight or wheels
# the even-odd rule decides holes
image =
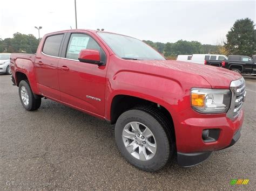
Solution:
[[[244,114],[231,121],[225,114],[203,115],[191,109],[192,87],[228,89],[241,75],[223,68],[167,60],[124,60],[118,58],[98,36],[97,31],[55,32],[86,33],[106,54],[103,66],[54,58],[42,53],[46,35],[35,55],[11,54],[11,70],[28,76],[33,93],[69,105],[102,119],[111,119],[111,103],[117,95],[130,95],[158,103],[166,108],[174,122],[178,152],[218,150],[228,146],[241,126]],[[80,58],[99,60],[98,51],[82,51]],[[99,98],[96,101],[86,95]],[[204,143],[203,129],[219,128],[218,142]],[[193,135],[193,136],[191,136]]]

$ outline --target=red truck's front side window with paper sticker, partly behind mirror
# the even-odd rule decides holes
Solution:
[[[100,52],[102,48],[93,38],[86,34],[71,34],[68,49],[66,50],[66,58],[78,60],[81,49],[95,49]]]

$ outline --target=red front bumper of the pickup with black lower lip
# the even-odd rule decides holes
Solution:
[[[244,112],[241,110],[238,117],[232,121],[226,114],[203,115],[187,109],[174,115],[173,119],[178,164],[194,166],[205,161],[213,151],[230,147],[238,141]],[[217,140],[205,142],[202,138],[205,129],[218,129]]]

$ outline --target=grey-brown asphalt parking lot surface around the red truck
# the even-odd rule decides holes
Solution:
[[[255,189],[256,79],[245,77],[241,138],[191,168],[174,159],[156,173],[131,166],[114,126],[51,100],[26,111],[9,75],[0,75],[0,189]],[[230,185],[231,179],[250,179]]]

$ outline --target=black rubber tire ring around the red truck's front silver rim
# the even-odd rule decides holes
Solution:
[[[130,122],[140,122],[149,128],[157,143],[157,151],[154,157],[147,161],[140,161],[134,158],[127,150],[123,143],[123,129]],[[145,171],[157,171],[163,167],[170,155],[170,143],[167,134],[160,123],[150,114],[140,110],[130,110],[124,112],[117,120],[115,128],[115,138],[119,151],[132,165]]]

